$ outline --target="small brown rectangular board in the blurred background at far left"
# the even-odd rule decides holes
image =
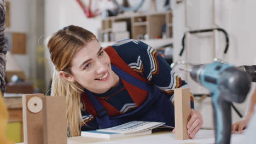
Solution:
[[[11,53],[26,54],[26,34],[13,33],[13,47]]]

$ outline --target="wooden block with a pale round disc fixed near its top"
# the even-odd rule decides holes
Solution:
[[[24,143],[43,144],[43,94],[23,94]]]

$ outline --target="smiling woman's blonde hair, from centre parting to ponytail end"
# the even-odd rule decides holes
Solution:
[[[79,136],[82,125],[80,95],[83,87],[77,82],[69,82],[60,76],[59,71],[72,74],[71,60],[75,53],[82,49],[96,36],[78,26],[64,27],[53,34],[48,42],[51,61],[55,65],[51,96],[66,96],[67,130],[68,136]]]

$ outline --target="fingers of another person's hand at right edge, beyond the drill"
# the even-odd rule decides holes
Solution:
[[[243,119],[243,121],[240,122],[236,122],[232,125],[232,131],[231,133],[234,134],[235,131],[238,131],[238,133],[243,133],[243,130],[246,129],[249,120],[251,119],[251,113],[248,113],[248,115],[245,117],[245,119]]]

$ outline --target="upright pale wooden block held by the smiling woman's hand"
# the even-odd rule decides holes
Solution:
[[[187,123],[190,118],[190,91],[189,88],[174,89],[174,112],[175,112],[175,139],[187,140]]]

